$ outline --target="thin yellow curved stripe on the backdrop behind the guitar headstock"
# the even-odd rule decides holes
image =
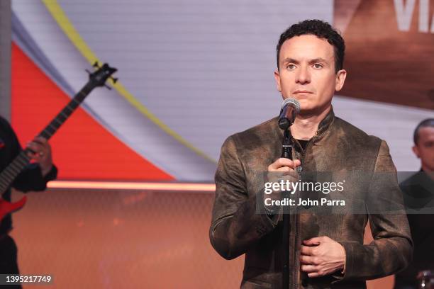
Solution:
[[[92,52],[89,46],[87,46],[86,42],[82,38],[82,36],[79,35],[78,31],[74,28],[71,21],[69,21],[69,18],[65,14],[65,12],[62,10],[60,5],[57,3],[57,0],[43,0],[43,4],[45,4],[45,7],[50,11],[52,18],[55,19],[57,24],[62,28],[63,32],[67,35],[69,40],[77,47],[77,50],[79,50],[80,53],[87,59],[87,61],[90,64],[94,64],[96,61],[101,64],[98,57]],[[199,149],[191,145],[187,140],[184,140],[180,135],[177,134],[177,132],[174,132],[174,130],[170,129],[165,123],[163,123],[160,119],[158,119],[155,115],[153,115],[148,108],[143,106],[140,101],[138,101],[130,92],[121,84],[120,81],[117,81],[116,84],[113,84],[113,81],[109,79],[109,84],[118,91],[121,96],[126,98],[126,100],[135,107],[140,113],[145,115],[147,118],[149,118],[152,123],[155,123],[160,129],[162,129],[164,132],[166,132],[168,135],[171,135],[175,140],[182,143],[185,147],[188,147],[193,152],[196,152],[196,154],[199,154],[201,157],[204,157],[205,159],[208,159],[208,161],[214,162],[211,157],[208,157],[204,152],[201,152]]]

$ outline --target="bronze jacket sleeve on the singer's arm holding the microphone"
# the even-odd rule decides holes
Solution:
[[[234,259],[272,232],[276,224],[268,215],[256,212],[256,195],[247,192],[245,170],[233,137],[228,137],[223,144],[215,181],[209,237],[218,254]]]

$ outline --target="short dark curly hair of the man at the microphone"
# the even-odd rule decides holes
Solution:
[[[280,35],[279,43],[277,43],[277,69],[279,69],[279,53],[282,44],[294,36],[300,35],[316,35],[318,38],[327,40],[331,45],[333,45],[335,50],[335,72],[343,69],[343,59],[345,55],[345,42],[335,28],[330,26],[327,22],[314,19],[305,20],[296,23],[285,30],[284,33]]]

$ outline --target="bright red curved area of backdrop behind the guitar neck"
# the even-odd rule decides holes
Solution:
[[[22,145],[45,128],[70,100],[15,43],[11,89],[12,125]],[[74,112],[50,143],[60,179],[173,179],[111,135],[82,108]]]

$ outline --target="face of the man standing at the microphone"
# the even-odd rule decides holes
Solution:
[[[282,97],[295,98],[301,113],[319,115],[330,108],[335,91],[342,89],[345,70],[335,73],[333,45],[315,35],[286,40],[279,54],[279,70],[274,72]]]

